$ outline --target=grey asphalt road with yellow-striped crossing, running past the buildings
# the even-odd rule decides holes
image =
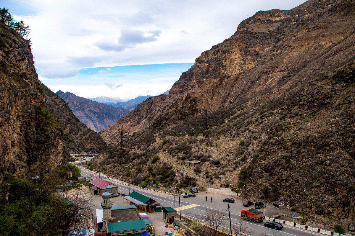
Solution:
[[[87,172],[84,171],[84,176],[87,176]],[[134,188],[131,186],[131,190],[129,190],[129,186],[126,185],[121,185],[117,183],[113,183],[115,185],[118,185],[118,192],[122,194],[129,194],[129,191],[136,191],[141,194],[144,194],[145,196],[148,196],[150,198],[155,198],[156,201],[161,203],[162,206],[166,207],[172,207],[175,208],[179,212],[179,196],[173,196],[173,195],[167,195],[167,194],[162,194],[162,193],[157,193],[154,191],[149,191],[149,190],[143,190],[140,188]],[[229,228],[229,217],[228,217],[228,212],[225,210],[228,208],[228,204],[230,206],[230,219],[231,219],[231,225],[233,228],[233,225],[237,225],[242,218],[240,217],[240,212],[242,209],[246,208],[243,206],[242,201],[239,199],[239,197],[234,197],[236,200],[234,203],[228,203],[228,202],[223,202],[223,199],[226,197],[230,196],[212,196],[213,201],[211,202],[211,195],[208,195],[207,201],[206,201],[206,194],[203,192],[197,192],[196,197],[187,197],[183,198],[182,195],[180,196],[180,207],[181,207],[181,214],[190,216],[191,218],[195,218],[196,216],[200,216],[199,218],[201,219],[204,216],[206,216],[206,211],[209,210],[221,210],[225,212],[225,223],[224,226],[227,226]],[[251,206],[253,207],[253,206]],[[249,208],[251,208],[249,207]],[[267,208],[266,208],[267,211]],[[252,223],[250,221],[244,221],[245,224],[249,229],[254,230],[253,235],[261,235],[264,232],[266,232],[267,235],[273,236],[318,236],[322,234],[317,234],[315,232],[311,232],[308,230],[303,230],[299,229],[296,227],[291,227],[287,225],[283,225],[282,230],[275,230],[275,229],[270,229],[266,228],[264,226],[264,222],[260,223]],[[324,235],[322,235],[324,236]]]

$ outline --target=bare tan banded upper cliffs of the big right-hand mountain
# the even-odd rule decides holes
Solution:
[[[190,93],[198,108],[215,110],[307,80],[351,58],[354,10],[354,1],[310,0],[289,11],[259,11],[196,58],[170,94]],[[327,57],[331,64],[319,62]]]

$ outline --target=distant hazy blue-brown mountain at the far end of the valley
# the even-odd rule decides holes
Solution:
[[[113,107],[107,104],[94,102],[90,99],[75,96],[70,92],[56,92],[59,97],[68,103],[70,109],[78,119],[96,132],[117,122],[122,116],[129,113],[121,107]]]

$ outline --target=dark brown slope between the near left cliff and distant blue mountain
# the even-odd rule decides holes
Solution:
[[[59,97],[46,95],[46,105],[63,129],[64,144],[68,150],[75,153],[107,150],[107,144],[101,136],[80,122],[69,106],[62,102]]]

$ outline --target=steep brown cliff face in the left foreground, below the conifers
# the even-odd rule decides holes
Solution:
[[[4,185],[11,175],[34,174],[29,168],[44,159],[53,166],[66,162],[62,130],[45,109],[32,59],[28,41],[0,22],[0,179]]]

